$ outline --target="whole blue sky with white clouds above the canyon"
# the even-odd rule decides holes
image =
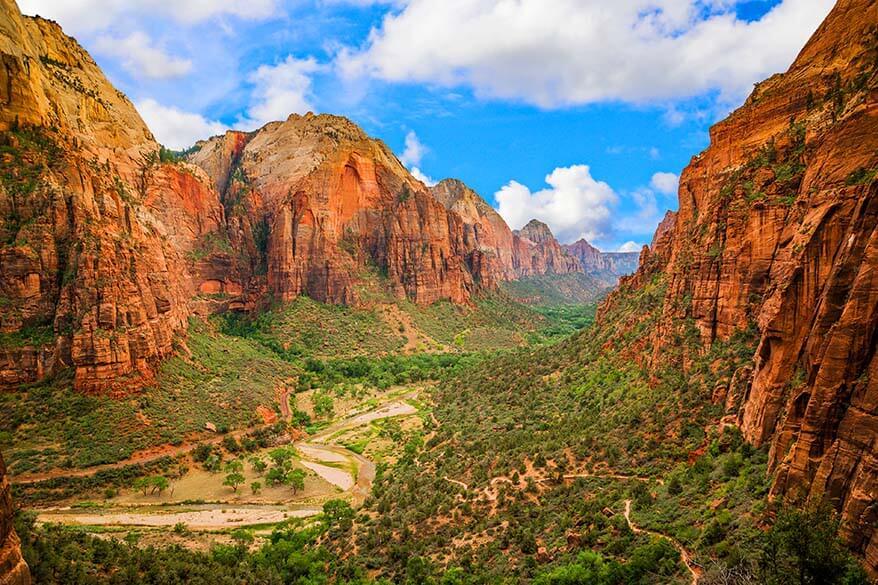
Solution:
[[[708,128],[785,70],[832,0],[20,0],[180,148],[345,115],[519,228],[648,243]]]

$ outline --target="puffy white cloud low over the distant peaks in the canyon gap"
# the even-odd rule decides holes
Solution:
[[[610,233],[610,208],[618,197],[608,184],[591,176],[587,165],[557,168],[546,183],[548,188],[531,192],[510,181],[494,194],[497,210],[511,227],[520,228],[536,218],[548,224],[562,242],[581,237],[594,241]]]

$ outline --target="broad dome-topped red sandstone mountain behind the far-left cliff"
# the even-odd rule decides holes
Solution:
[[[245,288],[350,304],[374,266],[400,297],[432,303],[467,302],[491,282],[460,216],[344,118],[294,115],[228,133],[191,160],[221,192],[230,247],[248,251],[237,266]]]

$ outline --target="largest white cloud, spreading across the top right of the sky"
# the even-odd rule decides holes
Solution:
[[[349,77],[466,85],[542,107],[710,90],[738,100],[791,63],[833,4],[782,0],[746,22],[731,0],[409,0],[338,63]]]

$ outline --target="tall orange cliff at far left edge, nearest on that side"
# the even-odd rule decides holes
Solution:
[[[215,219],[212,188],[160,164],[91,57],[12,0],[0,59],[0,386],[72,367],[83,391],[136,387],[186,326],[192,283],[175,244]]]

